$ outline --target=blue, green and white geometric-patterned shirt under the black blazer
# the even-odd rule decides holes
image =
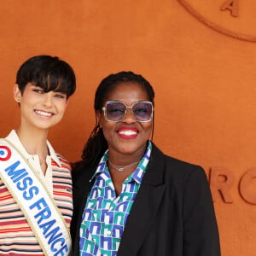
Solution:
[[[80,255],[117,255],[126,220],[148,166],[151,148],[148,141],[142,160],[136,170],[125,179],[122,192],[117,197],[107,166],[108,150],[103,155],[84,208],[80,226]]]

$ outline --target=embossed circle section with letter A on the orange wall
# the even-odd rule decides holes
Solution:
[[[232,38],[256,42],[255,0],[177,1],[196,19],[214,30]]]

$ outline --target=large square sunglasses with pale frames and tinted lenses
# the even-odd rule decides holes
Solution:
[[[131,108],[131,113],[137,122],[149,122],[153,118],[152,102],[135,102],[131,107],[124,102],[107,102],[102,110],[107,121],[119,122],[125,118],[127,108]]]

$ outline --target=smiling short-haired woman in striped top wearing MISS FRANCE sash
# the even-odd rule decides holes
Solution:
[[[47,140],[76,89],[72,67],[49,55],[16,76],[20,126],[0,140],[0,254],[70,255],[70,166]]]

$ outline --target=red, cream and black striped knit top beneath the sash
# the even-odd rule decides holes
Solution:
[[[10,141],[12,140],[11,138],[12,137],[8,137]],[[60,154],[55,154],[55,152],[53,152],[53,148],[51,148],[50,151],[52,195],[69,229],[73,212],[70,166],[67,160],[61,157]],[[52,157],[52,154],[54,154],[54,157]],[[32,230],[26,221],[26,218],[24,217],[24,214],[20,211],[20,207],[14,200],[13,196],[9,193],[9,190],[4,185],[1,178],[0,255],[44,255],[36,237],[33,235]]]

